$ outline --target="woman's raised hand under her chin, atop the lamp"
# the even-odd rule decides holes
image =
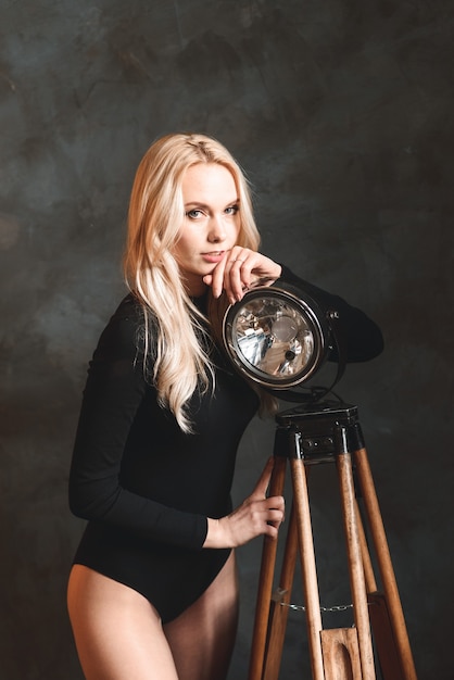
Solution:
[[[219,298],[225,290],[230,304],[235,304],[242,299],[248,288],[261,279],[270,285],[280,274],[281,266],[269,257],[249,248],[235,245],[213,272],[203,277],[203,281],[211,286],[214,298]]]

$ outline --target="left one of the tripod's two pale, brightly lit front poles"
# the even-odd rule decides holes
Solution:
[[[293,482],[293,504],[297,515],[301,569],[306,606],[307,641],[311,653],[313,680],[325,680],[321,653],[321,614],[315,567],[314,538],[307,492],[307,478],[302,458],[290,461]]]

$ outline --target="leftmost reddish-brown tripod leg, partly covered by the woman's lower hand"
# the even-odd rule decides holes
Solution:
[[[286,480],[287,458],[275,456],[275,466],[269,483],[269,495],[282,495]],[[266,652],[269,606],[273,593],[273,580],[276,565],[277,541],[265,537],[263,542],[262,565],[258,578],[255,622],[252,634],[249,680],[262,680]]]

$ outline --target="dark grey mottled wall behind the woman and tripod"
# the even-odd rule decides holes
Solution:
[[[452,3],[0,9],[0,678],[81,678],[65,583],[83,525],[66,482],[86,365],[124,290],[135,167],[156,136],[196,129],[248,171],[264,249],[383,329],[386,353],[340,392],[360,405],[419,678],[452,680]],[[273,436],[273,423],[248,431],[237,501]],[[321,599],[338,604],[330,480],[313,495]],[[260,542],[239,551],[232,680],[245,678],[258,557]],[[307,664],[290,619],[286,680]]]

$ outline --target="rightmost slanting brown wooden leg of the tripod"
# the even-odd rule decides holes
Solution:
[[[356,463],[357,479],[363,494],[364,507],[377,556],[390,624],[395,640],[396,652],[400,658],[402,670],[401,677],[403,680],[417,680],[416,668],[409,646],[401,599],[399,595],[394,570],[392,568],[391,555],[381,519],[377,493],[367,459],[367,452],[364,448],[354,452],[354,461]]]

